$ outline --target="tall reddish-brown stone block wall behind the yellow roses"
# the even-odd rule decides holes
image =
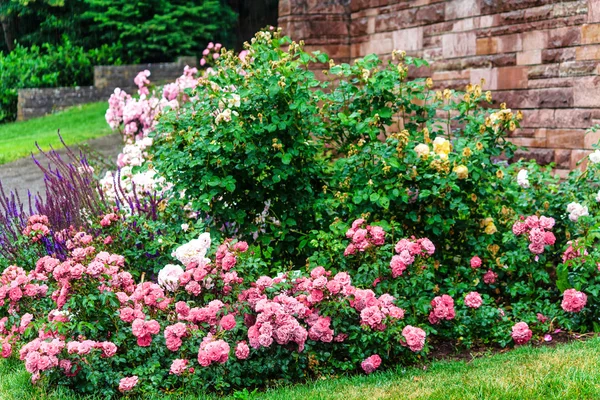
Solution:
[[[600,0],[280,0],[279,25],[337,62],[393,49],[432,61],[439,87],[523,110],[512,140],[564,175],[600,133]]]

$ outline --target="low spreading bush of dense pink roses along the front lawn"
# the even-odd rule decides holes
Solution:
[[[106,214],[99,225],[119,221]],[[371,232],[375,236],[369,240],[382,243],[385,232]],[[415,243],[416,255],[433,252],[432,245]],[[110,371],[107,379],[118,382],[117,387],[107,383],[106,393],[128,393],[157,383],[116,360],[156,355],[164,376],[171,377],[159,385],[169,387],[177,377],[205,376],[231,363],[261,363],[280,351],[312,359],[317,348],[365,346],[363,335],[389,335],[388,357],[398,357],[403,346],[410,353],[425,346],[425,331],[403,323],[406,312],[394,296],[356,287],[346,272],[318,266],[307,275],[244,279],[240,268],[252,260],[250,246],[227,239],[213,249],[210,236],[201,234],[172,252],[183,266],[166,265],[156,281],[138,280],[126,270],[124,257],[104,246],[101,236],[79,232],[69,239],[64,260],[44,256],[29,272],[11,266],[0,276],[0,310],[6,313],[0,320],[2,355],[16,351],[32,382],[75,382],[104,368]],[[46,302],[49,311],[34,301]],[[187,357],[192,351],[194,359]],[[371,373],[384,361],[372,355],[345,362]]]

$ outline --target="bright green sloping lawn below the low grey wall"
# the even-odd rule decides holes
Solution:
[[[107,109],[108,103],[103,101],[71,107],[28,121],[0,125],[0,164],[37,152],[35,142],[43,150],[48,150],[51,145],[60,147],[56,134],[59,129],[67,145],[110,134],[111,129],[104,120]]]

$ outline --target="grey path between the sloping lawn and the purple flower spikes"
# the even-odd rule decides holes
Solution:
[[[112,162],[116,162],[117,155],[123,149],[122,135],[118,133],[92,139],[85,143]],[[77,145],[70,147],[78,149]],[[60,149],[59,153],[63,155],[66,154],[66,151]],[[43,155],[36,156],[36,158],[40,162],[46,160]],[[27,190],[30,190],[32,193],[38,191],[43,193],[45,191],[44,175],[31,157],[0,165],[0,181],[2,181],[2,186],[6,192],[16,189],[23,202],[26,202]]]

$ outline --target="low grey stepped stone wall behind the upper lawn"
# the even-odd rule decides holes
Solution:
[[[46,89],[19,89],[17,121],[41,117],[67,107],[108,100],[115,88],[128,93],[137,90],[133,78],[149,70],[153,84],[172,82],[183,74],[186,65],[195,66],[195,57],[182,57],[174,63],[137,64],[94,67],[94,86]]]

